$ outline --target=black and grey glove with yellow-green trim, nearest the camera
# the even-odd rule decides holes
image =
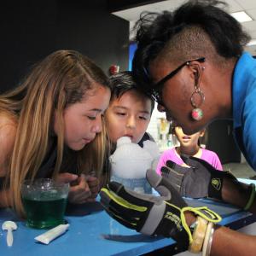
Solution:
[[[100,192],[102,206],[127,228],[145,235],[172,237],[179,247],[187,249],[193,238],[184,212],[195,212],[213,223],[221,220],[207,207],[188,207],[170,181],[154,170],[147,171],[147,178],[160,196],[138,194],[115,182]]]

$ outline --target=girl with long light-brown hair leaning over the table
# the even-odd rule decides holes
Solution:
[[[20,185],[26,178],[75,183],[68,196],[73,203],[96,197],[105,154],[102,113],[109,98],[106,75],[72,50],[47,56],[23,84],[0,96],[2,207],[22,215]],[[85,178],[91,172],[96,177]]]

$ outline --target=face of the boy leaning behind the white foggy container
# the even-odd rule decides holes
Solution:
[[[110,102],[105,116],[112,143],[124,136],[131,137],[132,143],[138,143],[148,128],[151,101],[136,90],[128,90]]]

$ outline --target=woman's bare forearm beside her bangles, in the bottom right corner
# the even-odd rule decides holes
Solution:
[[[248,236],[219,227],[215,230],[212,240],[211,256],[250,256],[256,252],[256,236]]]

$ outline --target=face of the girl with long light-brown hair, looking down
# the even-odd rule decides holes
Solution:
[[[87,90],[81,102],[71,104],[64,110],[64,141],[67,147],[81,150],[102,131],[102,114],[108,108],[110,90],[102,85]],[[55,134],[58,122],[55,119]]]

